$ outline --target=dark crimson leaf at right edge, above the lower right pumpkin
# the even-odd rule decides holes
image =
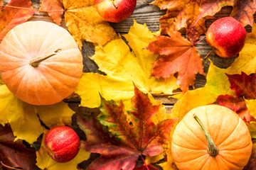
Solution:
[[[246,99],[256,99],[256,74],[247,75],[227,74],[230,88],[235,91],[236,96],[244,96]]]

